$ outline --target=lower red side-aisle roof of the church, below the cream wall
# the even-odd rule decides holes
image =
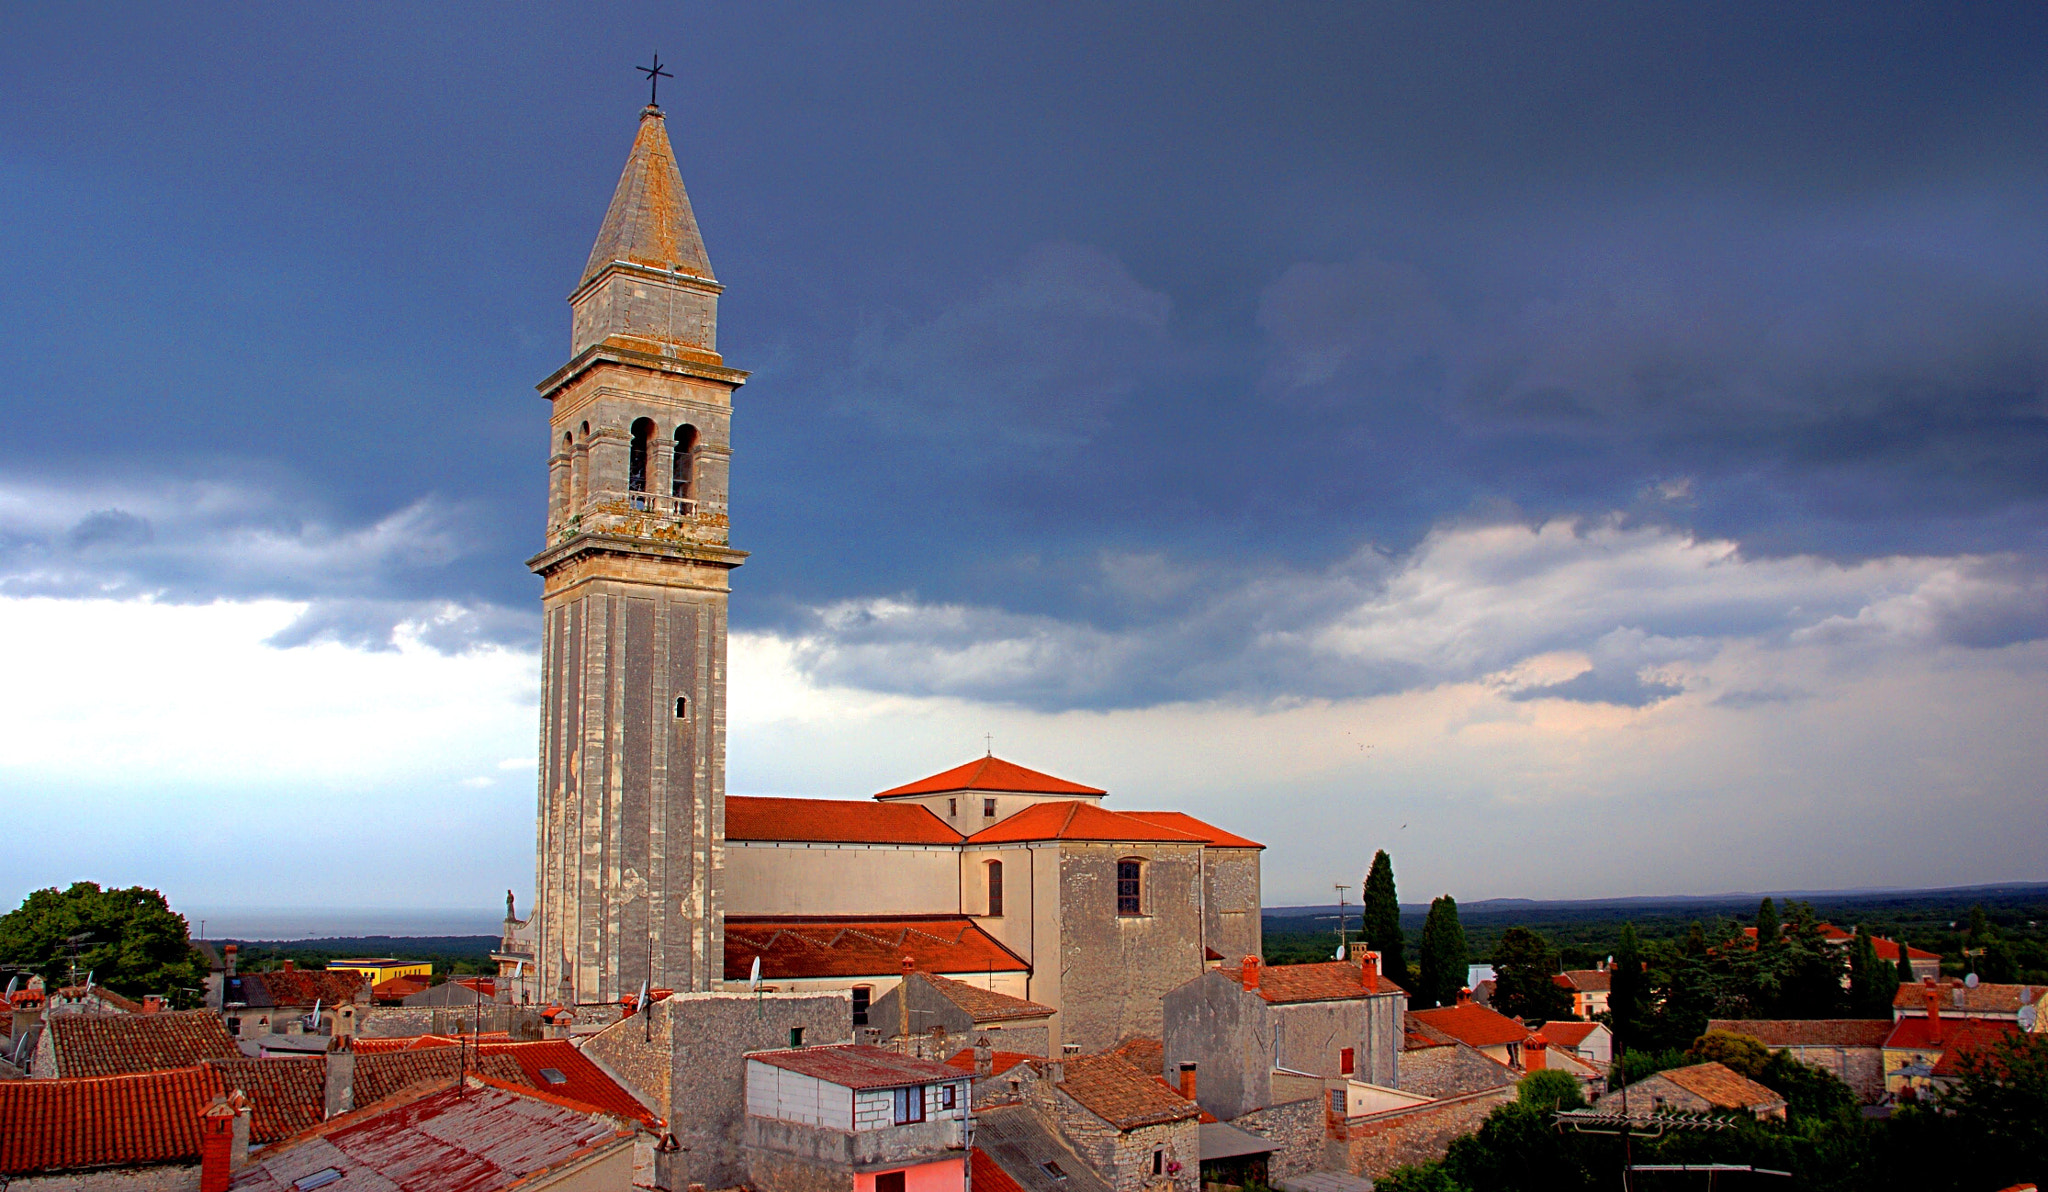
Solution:
[[[725,979],[899,977],[909,956],[920,973],[1026,973],[1030,965],[967,916],[834,920],[725,920]]]

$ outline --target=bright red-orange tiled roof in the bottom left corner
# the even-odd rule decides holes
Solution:
[[[221,1094],[199,1065],[86,1079],[0,1081],[0,1174],[190,1163]]]

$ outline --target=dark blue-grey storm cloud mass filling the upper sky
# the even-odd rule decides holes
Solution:
[[[10,530],[6,590],[324,602],[293,641],[532,608],[530,385],[641,29],[715,47],[664,98],[756,371],[733,619],[819,676],[1126,707],[1575,649],[1528,698],[1645,703],[1679,680],[1610,633],[1890,608],[1630,588],[1653,612],[1470,659],[1305,645],[1446,526],[1614,514],[1743,559],[2003,559],[1950,567],[1927,639],[2042,633],[2040,6],[440,16],[18,23],[0,410],[35,436],[8,471],[76,500]],[[197,522],[84,496],[238,469],[268,496]],[[524,633],[479,616],[436,633]]]

